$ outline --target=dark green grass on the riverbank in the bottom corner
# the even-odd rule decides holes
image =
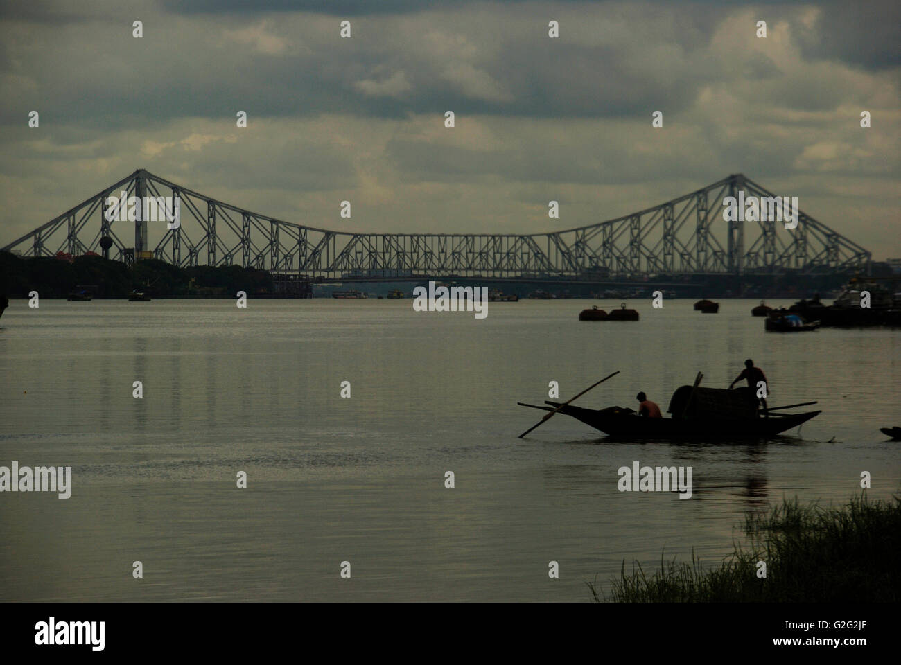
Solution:
[[[801,506],[784,500],[769,515],[749,514],[748,549],[737,545],[719,568],[660,561],[649,576],[625,562],[613,581],[618,603],[826,603],[901,599],[901,496],[870,502],[855,497],[843,506]],[[767,577],[758,578],[758,561]],[[596,601],[603,591],[588,584]]]

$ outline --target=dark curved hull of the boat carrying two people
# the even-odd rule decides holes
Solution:
[[[545,402],[560,406],[557,402]],[[571,415],[596,430],[611,436],[638,439],[761,439],[787,432],[820,414],[809,411],[805,414],[771,415],[769,418],[723,419],[698,418],[678,420],[675,418],[647,418],[617,409],[586,409],[581,406],[565,405],[561,414]]]

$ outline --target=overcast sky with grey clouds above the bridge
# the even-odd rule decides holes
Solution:
[[[547,232],[742,172],[901,257],[899,7],[0,1],[0,246],[139,168],[366,232]]]

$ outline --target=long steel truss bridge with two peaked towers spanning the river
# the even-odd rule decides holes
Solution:
[[[828,274],[869,263],[869,251],[800,211],[795,229],[781,222],[725,222],[724,197],[742,190],[745,197],[775,196],[738,174],[641,212],[566,231],[355,233],[252,213],[138,169],[3,250],[78,256],[104,253],[105,245],[105,255],[115,260],[152,257],[179,267],[240,265],[311,278],[385,280]],[[122,191],[141,200],[180,197],[180,227],[107,222],[106,199]],[[161,236],[155,245],[149,232]]]

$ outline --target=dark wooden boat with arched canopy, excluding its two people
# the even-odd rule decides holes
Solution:
[[[757,399],[751,388],[735,390],[721,388],[679,387],[669,400],[669,418],[648,418],[632,409],[610,406],[605,409],[587,409],[581,406],[561,405],[545,401],[549,406],[527,405],[543,411],[560,407],[560,414],[571,415],[596,430],[617,437],[633,439],[761,439],[787,432],[820,411],[801,414],[776,413],[783,407],[772,407],[769,417],[757,410]],[[815,402],[804,403],[815,404]],[[793,405],[800,406],[800,405]]]

